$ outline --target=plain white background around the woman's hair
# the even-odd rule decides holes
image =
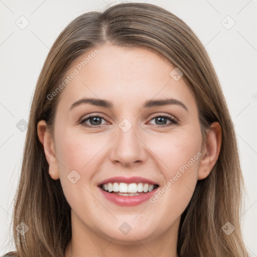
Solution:
[[[8,233],[26,136],[26,131],[18,130],[16,124],[21,119],[28,121],[37,78],[49,49],[59,33],[80,14],[102,12],[107,5],[120,2],[0,0],[0,254],[13,248],[12,234]],[[247,189],[240,218],[243,237],[251,256],[257,256],[257,1],[147,3],[159,5],[184,20],[212,60],[235,125]],[[21,16],[29,21],[24,30],[16,25]],[[227,16],[235,21],[229,30],[221,24]]]

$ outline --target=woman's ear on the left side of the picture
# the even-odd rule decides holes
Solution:
[[[45,120],[40,120],[37,125],[38,137],[44,147],[47,162],[49,164],[49,174],[52,179],[59,179],[58,162],[56,159],[56,152],[54,147],[54,140]]]

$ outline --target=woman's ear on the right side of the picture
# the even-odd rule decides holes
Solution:
[[[202,158],[199,164],[198,180],[205,179],[215,165],[221,148],[222,131],[218,122],[210,125],[206,134],[206,142],[202,147]]]

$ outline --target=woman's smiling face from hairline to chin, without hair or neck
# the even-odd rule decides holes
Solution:
[[[155,239],[178,229],[199,178],[196,101],[156,53],[107,43],[94,49],[66,74],[75,75],[60,95],[50,175],[60,178],[81,233],[123,243]]]

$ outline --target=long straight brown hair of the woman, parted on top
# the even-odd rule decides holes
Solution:
[[[54,125],[59,85],[71,63],[105,42],[146,47],[178,67],[194,93],[202,136],[210,123],[221,124],[222,145],[210,175],[199,180],[181,216],[177,252],[180,257],[246,257],[239,224],[243,180],[233,123],[215,70],[193,31],[172,13],[151,4],[125,3],[82,14],[54,42],[40,73],[31,106],[19,188],[15,199],[13,256],[63,257],[71,240],[71,209],[60,180],[48,173],[37,136],[37,123]],[[64,89],[65,90],[65,89]],[[16,227],[22,223],[24,233]],[[227,222],[235,230],[227,235]],[[21,226],[21,224],[20,224]],[[27,226],[27,227],[26,227]]]

